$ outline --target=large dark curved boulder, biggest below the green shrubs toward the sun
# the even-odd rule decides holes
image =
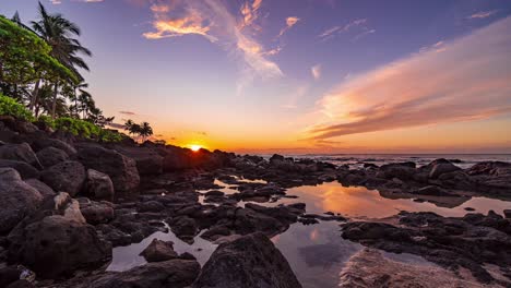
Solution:
[[[94,169],[108,175],[116,193],[126,196],[138,194],[140,176],[136,163],[122,154],[106,149],[98,145],[82,145],[78,158],[87,169]]]

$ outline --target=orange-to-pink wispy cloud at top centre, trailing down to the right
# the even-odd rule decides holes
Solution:
[[[147,39],[183,35],[200,35],[242,60],[238,91],[254,79],[273,79],[283,75],[278,65],[266,59],[264,47],[253,37],[255,20],[262,0],[245,2],[239,14],[231,13],[224,1],[166,0],[152,7],[153,32]]]

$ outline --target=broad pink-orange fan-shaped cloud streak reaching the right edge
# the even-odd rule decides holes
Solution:
[[[309,139],[511,113],[510,29],[508,17],[345,81],[318,103]]]

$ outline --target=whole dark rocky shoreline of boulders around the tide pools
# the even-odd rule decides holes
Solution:
[[[308,214],[299,199],[264,205],[292,196],[287,188],[330,181],[445,207],[473,196],[511,201],[508,163],[461,169],[437,159],[354,170],[281,155],[97,143],[9,117],[0,119],[0,287],[301,287],[269,238],[298,221],[323,220],[338,221],[340,237],[363,245],[417,254],[454,273],[468,269],[482,285],[511,285],[511,211],[359,221]],[[215,179],[238,192],[218,191]],[[193,255],[156,241],[144,251],[147,264],[105,271],[112,248],[167,229],[185,242],[199,236],[219,247],[201,268]]]

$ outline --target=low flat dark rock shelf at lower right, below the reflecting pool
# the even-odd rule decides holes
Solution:
[[[445,218],[433,213],[400,213],[401,227],[384,223],[343,225],[343,238],[395,253],[413,253],[441,266],[462,266],[483,283],[495,280],[483,266],[511,265],[511,221],[495,213]]]

